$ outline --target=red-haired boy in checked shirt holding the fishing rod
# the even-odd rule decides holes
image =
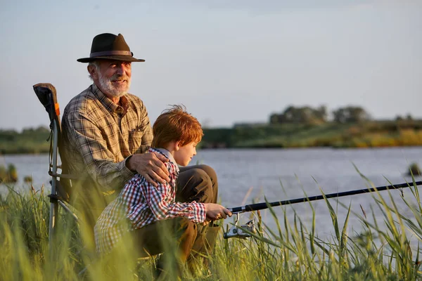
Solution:
[[[104,209],[94,228],[96,250],[107,254],[128,233],[132,235],[141,256],[165,252],[164,235],[172,230],[171,238],[177,242],[177,259],[184,263],[191,254],[197,237],[197,223],[231,216],[219,204],[175,202],[176,181],[180,166],[187,166],[200,142],[203,131],[198,120],[184,107],[174,105],[163,112],[153,125],[153,148],[148,152],[160,153],[170,161],[165,165],[170,173],[170,183],[154,187],[146,178],[136,174],[117,198]]]

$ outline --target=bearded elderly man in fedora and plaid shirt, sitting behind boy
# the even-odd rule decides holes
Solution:
[[[170,178],[163,164],[165,157],[144,153],[153,138],[150,120],[142,100],[128,93],[131,64],[145,60],[134,58],[122,34],[105,33],[94,37],[89,58],[77,61],[89,63],[94,83],[65,107],[60,156],[68,172],[80,176],[73,183],[78,191],[72,197],[91,232],[101,211],[113,200],[113,193],[135,173],[155,186],[155,181],[164,183]],[[180,169],[177,201],[216,203],[217,193],[217,176],[210,166]],[[210,249],[218,229],[198,226],[193,250]],[[92,249],[94,243],[88,247]]]

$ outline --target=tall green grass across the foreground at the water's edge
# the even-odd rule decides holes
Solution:
[[[367,218],[363,210],[353,211],[350,206],[338,203],[347,210],[344,221],[339,221],[332,206],[334,200],[326,200],[332,235],[324,240],[316,235],[314,209],[310,226],[305,226],[298,214],[293,214],[289,221],[292,216],[286,211],[277,217],[274,209],[270,209],[276,223],[272,229],[262,223],[258,212],[254,214],[258,221],[256,234],[248,240],[220,238],[215,252],[207,256],[209,265],[198,261],[193,271],[185,268],[182,278],[420,280],[422,206],[417,187],[410,185],[411,200],[393,198],[388,192],[387,196],[374,194],[373,208],[381,211],[382,219]],[[400,214],[397,200],[405,202],[411,217]],[[348,235],[351,216],[359,218],[362,230]],[[10,190],[6,197],[0,197],[0,280],[153,279],[155,258],[136,260],[127,241],[111,256],[89,259],[82,247],[83,231],[70,216],[59,218],[56,252],[50,255],[48,221],[49,199],[43,190],[32,189],[25,194]],[[87,270],[81,273],[84,268]],[[165,280],[177,279],[176,276],[170,273]]]

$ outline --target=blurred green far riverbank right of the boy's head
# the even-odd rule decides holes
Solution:
[[[422,122],[243,125],[204,134],[203,148],[385,148],[422,145]]]

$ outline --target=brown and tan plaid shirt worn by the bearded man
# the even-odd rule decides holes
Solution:
[[[62,133],[60,156],[69,173],[102,191],[120,190],[134,176],[126,159],[146,152],[153,141],[142,100],[128,93],[116,105],[95,84],[65,107]]]

